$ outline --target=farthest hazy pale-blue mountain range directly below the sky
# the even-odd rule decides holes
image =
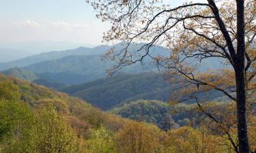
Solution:
[[[137,46],[134,44],[129,49],[137,50],[142,45],[139,44]],[[5,70],[5,74],[7,74],[8,69],[19,67],[24,70],[33,71],[37,75],[40,75],[41,78],[48,78],[61,84],[81,84],[107,76],[106,69],[111,68],[114,62],[102,60],[102,56],[113,47],[117,51],[124,48],[122,44],[117,44],[115,46],[98,46],[96,48],[80,47],[74,50],[46,52],[21,58],[17,61],[0,63],[0,70]],[[165,48],[156,46],[152,48],[152,54],[155,50],[160,54],[167,54],[168,51]],[[152,59],[145,58],[145,66],[137,63],[126,67],[122,72],[141,73],[152,71],[156,67],[150,65],[151,62]],[[23,76],[23,78],[26,77]]]

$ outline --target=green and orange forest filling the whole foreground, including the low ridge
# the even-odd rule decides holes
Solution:
[[[113,110],[137,120],[132,121],[44,86],[5,75],[0,78],[1,152],[233,152],[227,135],[216,131],[216,124],[205,116],[201,116],[204,120],[184,119],[187,122],[180,127],[175,123],[184,114],[199,118],[193,105],[178,106],[175,111],[182,109],[184,113],[173,116],[160,114],[168,112],[168,105],[160,101],[131,102]],[[148,116],[138,114],[138,107],[144,107],[140,111]],[[225,113],[233,103],[225,107],[212,103],[208,107],[221,108]],[[145,121],[154,121],[165,131]],[[249,128],[251,148],[256,148],[256,126],[251,124]]]

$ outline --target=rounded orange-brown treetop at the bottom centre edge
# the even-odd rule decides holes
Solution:
[[[126,124],[115,135],[115,146],[120,153],[154,153],[160,146],[162,133],[156,126],[142,122]]]

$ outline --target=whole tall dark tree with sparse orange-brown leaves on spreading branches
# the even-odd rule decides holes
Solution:
[[[233,148],[240,153],[250,152],[246,96],[255,87],[255,0],[205,0],[205,3],[190,2],[177,7],[162,0],[88,2],[98,12],[98,18],[112,24],[111,30],[104,33],[104,41],[127,42],[120,52],[110,50],[106,54],[117,61],[111,72],[150,56],[169,75],[182,76],[197,90],[223,92],[236,101],[238,146],[233,144]],[[146,44],[131,52],[128,47],[139,42]],[[172,50],[170,56],[152,56],[150,48],[159,44]],[[208,60],[221,63],[222,59],[231,68],[202,73],[197,71],[197,65],[188,62],[190,58],[199,63]],[[225,80],[223,76],[228,78]],[[208,116],[218,122],[211,114]]]

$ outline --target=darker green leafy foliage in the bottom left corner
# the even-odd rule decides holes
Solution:
[[[33,113],[25,103],[0,101],[0,149],[5,153],[31,151]]]

